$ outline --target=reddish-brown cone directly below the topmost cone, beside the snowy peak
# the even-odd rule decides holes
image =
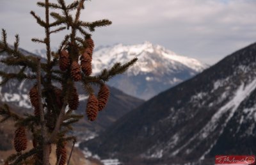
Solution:
[[[86,52],[81,56],[81,68],[84,75],[89,76],[92,74],[92,57]]]

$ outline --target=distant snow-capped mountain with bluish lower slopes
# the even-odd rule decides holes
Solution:
[[[96,49],[93,53],[93,74],[99,73],[102,68],[113,66],[114,63],[125,63],[135,57],[138,62],[108,84],[145,100],[207,68],[207,65],[196,59],[179,56],[160,45],[145,42]]]

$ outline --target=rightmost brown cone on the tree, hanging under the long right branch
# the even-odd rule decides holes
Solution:
[[[104,109],[106,107],[106,104],[108,102],[109,97],[109,89],[108,86],[105,84],[100,87],[99,93],[98,93],[98,100],[99,100],[99,111]]]

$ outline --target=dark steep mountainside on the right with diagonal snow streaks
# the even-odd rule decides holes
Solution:
[[[82,143],[123,164],[214,164],[256,152],[256,43],[151,98]],[[210,161],[209,161],[210,160]]]

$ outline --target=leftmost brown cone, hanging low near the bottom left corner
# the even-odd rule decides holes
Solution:
[[[26,138],[26,129],[25,127],[19,127],[19,129],[15,130],[14,136],[14,148],[17,152],[21,152],[22,150],[26,150],[28,140]]]

